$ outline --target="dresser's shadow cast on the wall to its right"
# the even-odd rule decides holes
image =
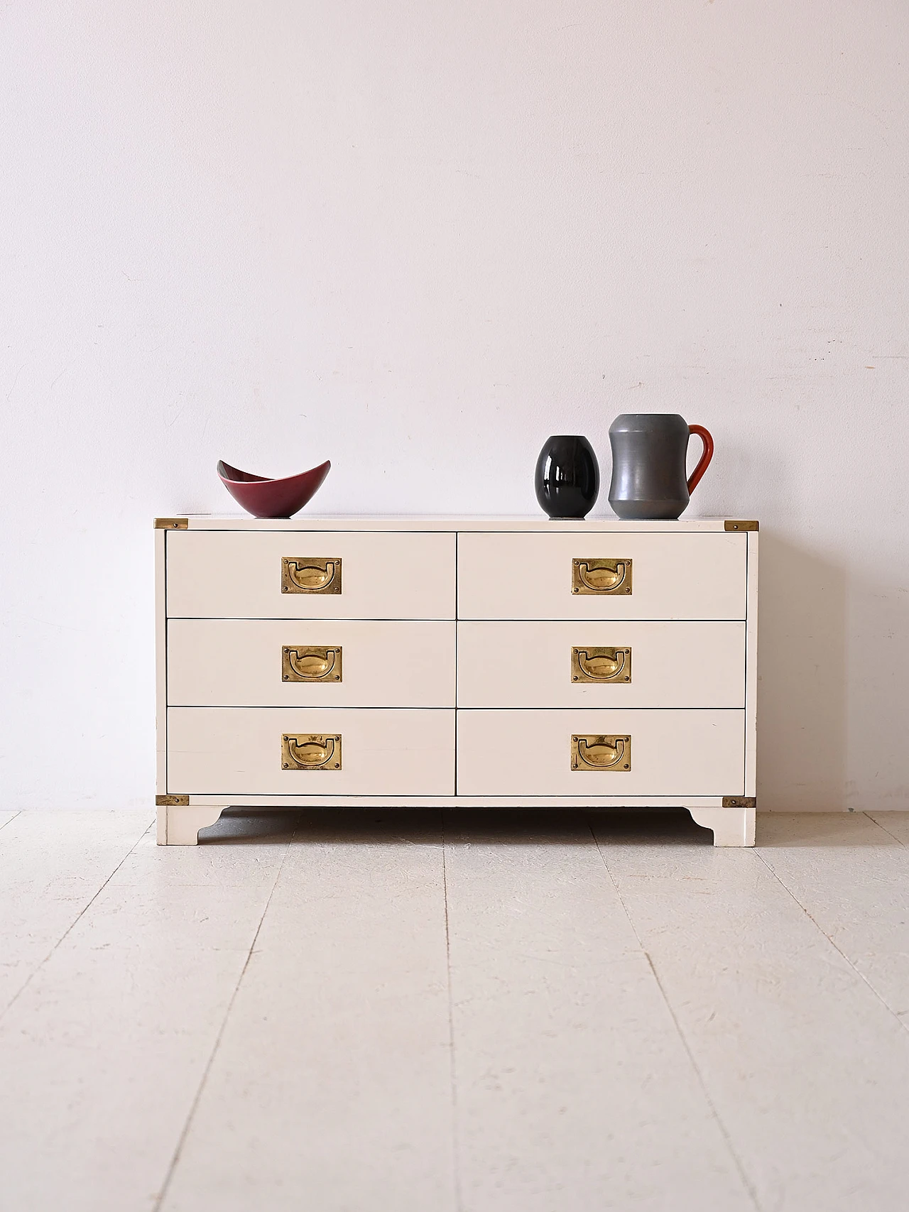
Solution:
[[[758,806],[846,800],[846,572],[761,530]]]

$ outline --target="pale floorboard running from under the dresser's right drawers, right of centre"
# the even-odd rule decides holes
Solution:
[[[585,818],[452,813],[446,868],[464,1212],[753,1208]]]

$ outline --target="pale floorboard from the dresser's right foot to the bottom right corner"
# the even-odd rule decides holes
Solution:
[[[867,828],[842,819],[854,847],[829,817],[797,828],[835,863]],[[595,828],[759,1207],[902,1212],[909,1036],[764,861],[784,825],[761,821],[766,851],[714,850],[693,827],[663,846],[644,823]],[[808,869],[812,848],[793,862]],[[856,863],[851,879],[874,875]]]

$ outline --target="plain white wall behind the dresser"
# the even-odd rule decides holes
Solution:
[[[905,0],[4,5],[0,806],[152,802],[218,457],[536,513],[678,411],[762,522],[761,806],[909,808],[908,81]]]

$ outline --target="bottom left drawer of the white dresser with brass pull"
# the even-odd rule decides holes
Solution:
[[[172,707],[167,789],[189,795],[451,795],[454,711]]]

